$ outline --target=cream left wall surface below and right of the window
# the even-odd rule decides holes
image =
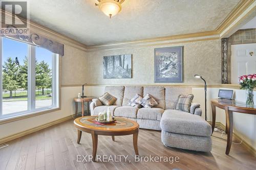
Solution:
[[[86,52],[65,44],[65,55],[61,57],[61,85],[86,82],[86,62]],[[2,124],[0,139],[74,114],[73,98],[78,93],[81,93],[81,87],[62,87],[61,110]]]

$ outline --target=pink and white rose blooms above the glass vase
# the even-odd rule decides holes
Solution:
[[[243,75],[239,77],[240,89],[251,89],[256,87],[256,74],[253,75]]]

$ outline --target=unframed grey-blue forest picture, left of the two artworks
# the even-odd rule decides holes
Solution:
[[[103,57],[103,79],[131,79],[132,55]]]

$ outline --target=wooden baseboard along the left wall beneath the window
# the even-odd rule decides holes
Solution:
[[[53,122],[50,122],[50,123],[47,123],[47,124],[44,124],[44,125],[40,125],[40,126],[37,126],[37,127],[35,127],[35,128],[31,128],[31,129],[29,129],[29,130],[26,130],[26,131],[23,131],[23,132],[19,132],[19,133],[10,135],[10,136],[6,136],[6,137],[0,139],[0,144],[6,143],[6,142],[8,142],[8,141],[10,141],[10,140],[13,140],[13,139],[16,139],[16,138],[19,138],[19,137],[22,137],[22,136],[25,136],[25,135],[34,133],[34,132],[36,132],[36,131],[39,131],[39,130],[48,128],[48,127],[50,127],[50,126],[59,124],[59,123],[61,123],[61,122],[65,122],[66,120],[69,120],[69,119],[72,119],[72,118],[73,118],[73,115],[69,115],[69,116],[67,116],[67,117],[63,117],[63,118],[54,120]]]

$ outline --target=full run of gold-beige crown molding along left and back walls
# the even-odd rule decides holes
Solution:
[[[50,39],[54,39],[60,43],[70,45],[84,52],[88,51],[101,51],[101,50],[115,50],[120,48],[129,48],[137,46],[151,46],[151,45],[163,45],[163,44],[174,44],[183,42],[193,42],[202,40],[214,40],[220,39],[221,34],[225,31],[236,19],[239,18],[256,0],[241,0],[238,5],[229,13],[229,15],[221,22],[221,24],[212,31],[173,35],[166,37],[148,38],[133,41],[123,41],[116,43],[105,43],[99,45],[85,45],[74,39],[71,39],[65,35],[59,34],[52,31],[45,26],[39,25],[33,21],[28,21],[30,25],[31,32],[37,32],[42,36]],[[1,14],[3,14],[2,9],[0,9]],[[249,13],[250,11],[247,11]],[[242,18],[241,18],[242,19]]]

